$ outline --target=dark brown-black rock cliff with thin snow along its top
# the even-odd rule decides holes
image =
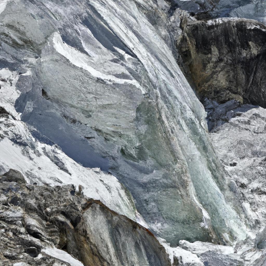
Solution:
[[[183,20],[178,48],[199,94],[266,107],[266,26],[247,19]]]

